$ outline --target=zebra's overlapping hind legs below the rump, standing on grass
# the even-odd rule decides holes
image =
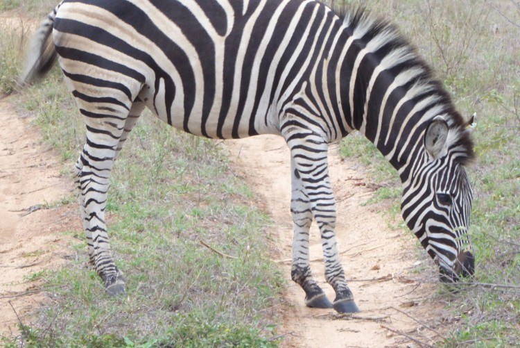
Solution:
[[[136,101],[132,108],[99,107],[96,103],[80,105],[87,125],[87,143],[76,164],[76,185],[80,190],[78,200],[87,235],[89,261],[105,282],[107,292],[116,295],[125,291],[125,278],[114,262],[105,222],[109,176],[144,104]],[[110,114],[107,113],[109,110]]]

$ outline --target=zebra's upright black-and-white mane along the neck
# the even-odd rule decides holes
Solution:
[[[401,70],[420,72],[415,74],[408,84],[413,86],[412,88],[421,87],[417,88],[417,90],[422,90],[417,92],[417,97],[419,94],[424,94],[425,90],[428,91],[428,95],[435,96],[437,99],[435,108],[442,110],[441,115],[449,125],[449,148],[458,151],[458,163],[461,165],[471,163],[475,157],[474,143],[467,130],[467,120],[458,113],[444,85],[435,77],[431,67],[399,28],[362,7],[336,6],[333,11],[343,19],[343,25],[349,31],[349,35],[354,36],[359,44],[368,46],[378,42],[376,44],[379,44],[379,47],[374,52],[374,56],[379,61],[382,62],[383,58],[390,58],[390,55],[396,57],[388,69],[394,69],[397,65],[405,65],[406,67],[401,67]],[[430,119],[437,115],[430,115]],[[429,122],[429,119],[425,121]]]

